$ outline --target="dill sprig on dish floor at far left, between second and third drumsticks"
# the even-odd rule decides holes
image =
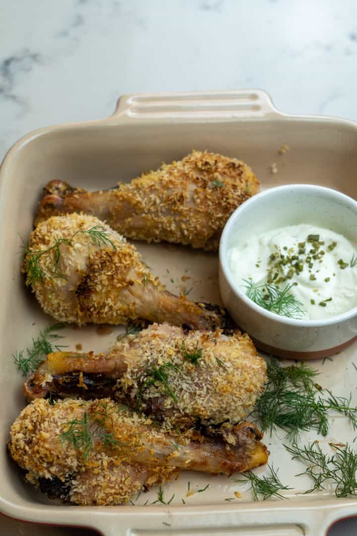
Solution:
[[[55,350],[58,352],[61,348],[65,348],[64,345],[55,344],[56,341],[63,338],[55,332],[63,327],[64,324],[60,323],[45,327],[43,331],[40,331],[40,334],[36,339],[32,339],[32,347],[26,348],[26,351],[21,350],[20,352],[12,354],[14,364],[16,364],[17,368],[21,370],[24,376],[37,370],[41,361],[43,361],[48,354]]]

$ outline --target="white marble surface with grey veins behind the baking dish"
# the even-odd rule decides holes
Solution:
[[[355,0],[0,5],[0,160],[26,132],[110,115],[128,92],[258,87],[280,110],[357,121]],[[0,533],[75,530],[0,518]],[[357,521],[330,534],[357,534]]]

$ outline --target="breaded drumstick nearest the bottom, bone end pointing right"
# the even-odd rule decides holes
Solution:
[[[232,429],[236,446],[198,431],[166,433],[110,399],[36,399],[13,423],[10,455],[27,481],[75,504],[120,504],[180,469],[225,473],[267,463],[251,423]]]

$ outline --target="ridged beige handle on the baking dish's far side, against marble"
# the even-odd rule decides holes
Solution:
[[[281,116],[262,90],[207,91],[201,93],[146,93],[118,99],[112,120],[161,118],[240,118]]]

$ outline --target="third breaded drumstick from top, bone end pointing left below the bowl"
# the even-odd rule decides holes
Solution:
[[[153,324],[109,354],[55,352],[24,384],[28,400],[110,396],[166,429],[236,423],[267,381],[265,361],[245,334]]]

